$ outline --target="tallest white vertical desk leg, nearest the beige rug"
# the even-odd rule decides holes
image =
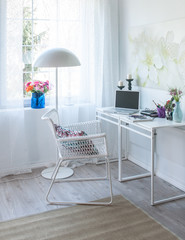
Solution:
[[[154,144],[156,131],[151,133],[151,205],[154,205]]]

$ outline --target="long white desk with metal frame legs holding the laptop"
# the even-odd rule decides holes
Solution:
[[[165,203],[177,199],[181,199],[185,197],[185,194],[181,194],[178,196],[161,199],[154,201],[154,151],[155,151],[155,140],[157,135],[157,129],[159,128],[179,128],[179,127],[185,127],[185,122],[182,123],[176,123],[173,121],[169,121],[165,118],[155,118],[153,121],[145,121],[145,122],[132,122],[128,118],[128,115],[122,115],[122,114],[114,114],[109,113],[106,111],[106,108],[98,108],[96,110],[96,118],[105,120],[106,122],[109,122],[111,124],[115,124],[118,127],[118,180],[120,182],[139,179],[143,177],[151,176],[151,205],[157,205],[160,203]],[[122,178],[122,128],[126,129],[126,135],[127,131],[135,132],[139,135],[142,135],[151,141],[151,171],[150,173],[130,176]],[[128,153],[128,143],[125,141],[125,158],[127,159]]]

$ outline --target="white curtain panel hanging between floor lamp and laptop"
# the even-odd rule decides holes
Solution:
[[[114,104],[119,79],[118,1],[82,0],[82,88],[96,106]]]

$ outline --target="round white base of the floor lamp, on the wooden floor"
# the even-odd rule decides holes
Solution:
[[[51,168],[46,168],[41,172],[41,176],[46,178],[46,179],[52,179],[52,174],[54,171],[55,167]],[[68,168],[68,167],[60,167],[56,176],[56,179],[64,179],[71,177],[74,174],[73,169]]]

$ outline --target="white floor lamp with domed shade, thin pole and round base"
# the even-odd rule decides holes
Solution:
[[[75,67],[80,66],[79,59],[69,50],[65,48],[51,48],[43,53],[35,60],[34,67],[56,68],[56,109],[58,111],[58,68],[59,67]],[[44,178],[51,179],[54,168],[47,168],[42,171]],[[61,167],[57,179],[67,178],[73,175],[73,170],[68,167]]]

